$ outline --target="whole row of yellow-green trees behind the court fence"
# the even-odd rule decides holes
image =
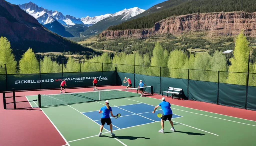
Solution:
[[[230,83],[246,85],[248,56],[251,51],[250,42],[241,32],[235,41],[233,57],[230,59],[230,66],[227,64],[226,56],[221,51],[214,54],[184,52],[184,50],[168,50],[161,43],[154,45],[152,54],[140,53],[126,54],[124,52],[111,54],[103,53],[95,55],[93,58],[81,60],[67,59],[67,63],[62,64],[52,60],[52,57],[45,56],[37,59],[37,55],[29,48],[18,62],[10,49],[9,41],[1,37],[0,65],[6,64],[8,74],[37,74],[62,72],[96,72],[113,71],[115,67],[118,72],[136,73],[151,76],[163,76],[173,78],[188,78],[190,80],[218,82],[218,71],[220,71],[220,83]],[[150,55],[152,55],[150,57]],[[134,60],[135,59],[135,60]],[[134,71],[135,61],[135,71]],[[102,66],[103,63],[103,66]],[[160,69],[161,67],[161,69]],[[256,86],[256,65],[250,63],[249,85]],[[5,74],[0,70],[0,74]],[[236,72],[236,73],[235,73]],[[238,72],[238,73],[237,73]],[[161,73],[161,74],[160,74]]]

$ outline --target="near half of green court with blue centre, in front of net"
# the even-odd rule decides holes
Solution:
[[[38,98],[37,95],[26,97],[29,101]],[[70,146],[107,144],[115,146],[249,146],[256,143],[256,121],[172,105],[173,114],[178,115],[177,118],[173,118],[176,132],[171,131],[169,121],[165,121],[165,133],[159,133],[161,122],[156,114],[162,110],[159,108],[155,114],[152,114],[152,111],[161,100],[150,97],[130,97],[110,99],[109,102],[114,115],[121,110],[123,113],[130,113],[130,115],[121,114],[118,119],[111,118],[113,125],[116,126],[113,127],[115,137],[110,137],[108,125],[104,126],[102,136],[98,136],[100,121],[97,118],[100,119],[100,114],[97,111],[104,106],[104,101],[42,107],[41,109]],[[30,104],[32,107],[38,105],[37,101],[30,102]],[[143,112],[143,110],[148,112]],[[44,125],[38,126],[44,127]]]

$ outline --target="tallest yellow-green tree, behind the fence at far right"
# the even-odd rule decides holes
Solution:
[[[230,59],[231,65],[229,66],[229,72],[245,72],[245,73],[229,73],[228,83],[246,85],[247,70],[248,70],[248,57],[251,48],[249,42],[241,32],[236,39],[234,57]]]

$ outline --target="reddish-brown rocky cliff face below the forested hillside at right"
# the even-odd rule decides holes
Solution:
[[[233,36],[244,30],[245,35],[256,37],[256,12],[195,13],[173,16],[161,20],[149,29],[105,30],[100,37],[147,38],[171,33],[180,35],[188,31],[208,31],[212,35]]]

